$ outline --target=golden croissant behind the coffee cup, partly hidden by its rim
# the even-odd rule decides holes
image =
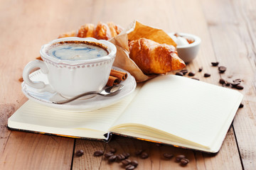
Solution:
[[[65,38],[65,37],[80,37],[80,38],[96,38],[97,40],[110,40],[114,36],[118,35],[119,33],[124,30],[121,26],[118,26],[115,23],[97,23],[95,26],[92,23],[86,23],[83,26],[75,31],[71,31],[69,33],[64,33],[59,35],[58,38]]]

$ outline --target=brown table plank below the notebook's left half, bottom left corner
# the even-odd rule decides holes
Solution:
[[[0,169],[70,169],[73,139],[12,131]]]

